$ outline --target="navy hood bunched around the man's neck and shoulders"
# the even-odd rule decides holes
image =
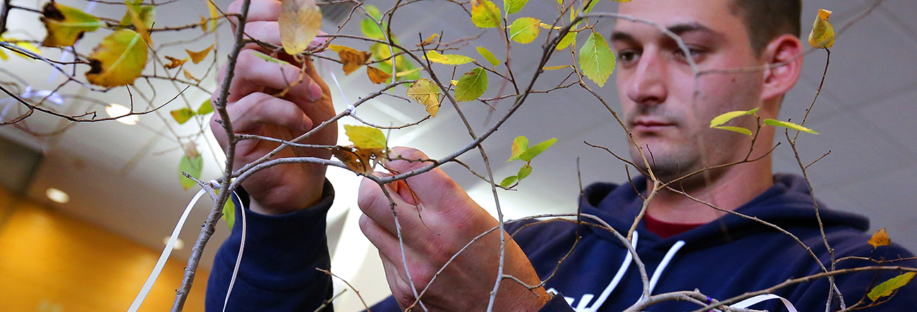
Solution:
[[[615,185],[596,183],[585,189],[580,198],[582,213],[592,214],[608,222],[616,231],[626,232],[643,205],[641,193],[646,193],[646,179],[635,178],[632,183]],[[736,212],[767,221],[782,229],[799,227],[818,228],[818,220],[812,210],[812,193],[806,181],[798,176],[779,174],[774,176],[774,185],[755,199],[736,209]],[[825,228],[848,227],[867,231],[867,218],[845,211],[829,210],[818,201],[819,214]],[[590,227],[591,228],[591,227]],[[704,248],[761,232],[777,231],[759,221],[749,220],[734,214],[726,214],[691,231],[685,231],[667,239],[647,231],[644,221],[637,225],[640,243],[650,244],[654,249],[665,250],[673,243],[684,241],[691,249]],[[607,231],[594,231],[603,238],[619,242]],[[645,245],[646,246],[646,245]]]

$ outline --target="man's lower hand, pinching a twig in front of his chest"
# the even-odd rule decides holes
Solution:
[[[404,159],[427,159],[420,151],[393,148]],[[429,163],[393,160],[386,167],[408,172]],[[436,271],[475,236],[498,225],[446,173],[435,168],[426,173],[389,185],[402,227],[404,254],[411,279],[419,293],[430,284]],[[360,229],[377,248],[392,294],[402,308],[414,303],[414,291],[402,261],[389,199],[378,184],[363,179],[359,188]],[[525,253],[506,235],[503,274],[513,275],[528,285],[538,285],[538,276]],[[436,277],[421,297],[425,307],[434,311],[486,311],[497,278],[500,254],[499,231],[492,231],[458,255]],[[529,290],[504,279],[494,311],[537,311],[547,302],[545,289]],[[420,311],[420,307],[414,307]]]

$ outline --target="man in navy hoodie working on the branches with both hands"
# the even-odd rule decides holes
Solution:
[[[253,1],[247,32],[279,42],[273,22],[279,6],[272,0]],[[642,149],[632,146],[636,164],[644,170],[651,168],[653,177],[669,182],[704,167],[745,159],[749,150],[752,159],[760,158],[682,178],[673,188],[654,194],[632,242],[651,276],[647,277],[648,292],[654,295],[697,289],[706,297],[665,301],[640,309],[692,310],[713,300],[823,272],[812,253],[831,267],[804,181],[771,173],[766,151],[775,129],[762,128],[752,146],[744,134],[708,126],[714,116],[736,110],[759,108],[757,114],[762,118],[777,117],[783,94],[790,90],[801,70],[799,10],[798,1],[638,0],[620,6],[622,14],[655,22],[678,34],[701,70],[763,67],[745,73],[703,75],[698,85],[700,93],[695,96],[694,75],[675,40],[646,24],[619,21],[614,28],[611,38],[619,58],[618,93],[625,122],[635,145]],[[232,5],[230,11],[238,11],[238,4]],[[288,77],[282,77],[276,68],[260,66],[264,60],[255,57],[255,53],[249,49],[240,55],[237,78],[230,90],[227,110],[237,133],[291,139],[333,114],[328,89],[310,64],[309,79],[294,86],[286,97],[276,98],[271,91],[285,88],[286,81],[298,77],[298,71],[290,66],[283,70]],[[731,125],[756,128],[750,117],[735,119]],[[334,144],[334,130],[328,127],[306,143]],[[226,145],[222,129],[215,123],[214,133],[221,145]],[[255,140],[240,142],[235,167],[264,155],[274,146]],[[393,152],[407,159],[426,158],[411,149],[394,148]],[[327,157],[311,149],[287,148],[284,153],[287,154],[281,156]],[[652,166],[647,167],[643,159],[650,159]],[[387,166],[406,172],[426,164],[401,160]],[[284,165],[260,172],[243,183],[250,196],[249,207],[255,213],[248,216],[249,241],[227,309],[313,311],[330,296],[329,277],[315,271],[315,267],[329,265],[325,212],[333,190],[323,182],[324,170],[315,165]],[[621,186],[600,183],[586,189],[580,199],[582,212],[601,218],[612,229],[587,219],[582,224],[555,221],[509,226],[508,232],[515,236],[514,241],[507,242],[500,272],[515,280],[503,279],[493,310],[620,311],[635,304],[641,299],[644,284],[636,265],[631,265],[632,255],[611,231],[626,233],[643,206],[643,198],[650,193],[647,189],[652,187],[652,181],[636,178]],[[393,293],[372,307],[373,311],[412,307],[416,294],[430,284],[436,271],[453,254],[497,225],[439,169],[386,188],[398,195],[392,195],[392,200],[397,204],[403,249],[395,234],[399,230],[389,199],[381,188],[364,179],[359,192],[359,207],[365,213],[360,227],[379,248]],[[709,205],[722,210],[713,210]],[[912,256],[898,246],[879,247],[873,252],[863,233],[868,228],[866,219],[819,207],[824,233],[835,256],[866,259],[845,260],[838,268],[876,264],[868,260],[870,257]],[[798,237],[812,253],[784,232],[724,211],[779,226]],[[208,284],[210,311],[223,307],[238,251],[238,228],[217,254]],[[576,235],[581,236],[579,242]],[[558,266],[574,243],[573,253]],[[436,311],[485,311],[494,279],[501,270],[497,266],[499,246],[498,232],[471,244],[442,274],[436,275],[436,281],[422,296],[423,307]],[[897,264],[915,266],[913,261]],[[836,276],[835,281],[849,307],[860,301],[871,285],[897,274],[844,274]],[[541,286],[540,278],[549,275],[553,277]],[[529,289],[523,283],[533,286]],[[872,308],[915,307],[915,291],[913,285],[906,286],[889,302]],[[829,287],[822,278],[773,293],[787,298],[801,311],[815,311],[825,308]],[[860,307],[871,302],[865,299]],[[833,309],[838,309],[837,296],[832,303]],[[784,309],[784,304],[770,300],[752,308],[778,311]]]

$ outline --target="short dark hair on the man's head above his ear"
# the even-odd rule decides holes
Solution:
[[[801,0],[732,0],[732,13],[745,22],[751,48],[761,56],[770,40],[800,37]]]

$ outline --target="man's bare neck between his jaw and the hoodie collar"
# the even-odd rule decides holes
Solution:
[[[647,189],[653,189],[653,181],[647,179],[646,183]],[[669,186],[678,191],[659,189],[649,201],[647,213],[658,221],[707,223],[726,213],[711,208],[711,205],[722,210],[735,210],[773,184],[770,156],[766,156],[751,163],[700,173]]]

